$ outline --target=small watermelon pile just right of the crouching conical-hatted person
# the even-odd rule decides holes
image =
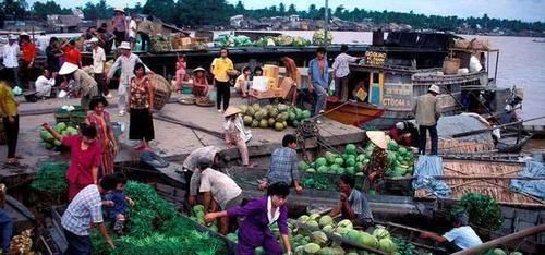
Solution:
[[[396,142],[390,141],[388,142],[387,154],[387,177],[399,178],[412,175],[414,171],[414,155],[410,149],[399,146]]]

